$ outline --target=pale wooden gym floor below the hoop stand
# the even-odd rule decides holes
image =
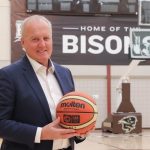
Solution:
[[[84,142],[75,145],[75,150],[150,150],[150,129],[143,129],[140,134],[112,134],[96,130]]]

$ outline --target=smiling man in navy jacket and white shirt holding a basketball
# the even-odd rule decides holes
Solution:
[[[56,119],[60,98],[74,91],[69,69],[52,62],[52,26],[43,16],[21,27],[25,56],[0,69],[1,150],[74,150],[82,139]]]

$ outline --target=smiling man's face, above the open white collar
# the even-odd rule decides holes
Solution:
[[[47,22],[40,20],[27,23],[21,44],[32,59],[48,66],[52,54],[52,31]]]

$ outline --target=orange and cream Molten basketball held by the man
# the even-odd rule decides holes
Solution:
[[[56,108],[60,126],[75,129],[79,134],[86,134],[95,127],[97,114],[95,100],[77,91],[64,95]]]

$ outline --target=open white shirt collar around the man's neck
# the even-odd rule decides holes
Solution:
[[[47,69],[45,66],[43,66],[42,64],[40,64],[37,61],[35,61],[34,59],[32,59],[29,55],[27,55],[27,58],[29,59],[29,62],[31,63],[31,65],[32,65],[32,67],[33,67],[35,72],[37,72],[41,68],[45,68],[45,70]],[[52,72],[52,73],[54,73],[54,71],[55,71],[54,64],[53,64],[53,62],[50,59],[49,59],[48,71]]]

